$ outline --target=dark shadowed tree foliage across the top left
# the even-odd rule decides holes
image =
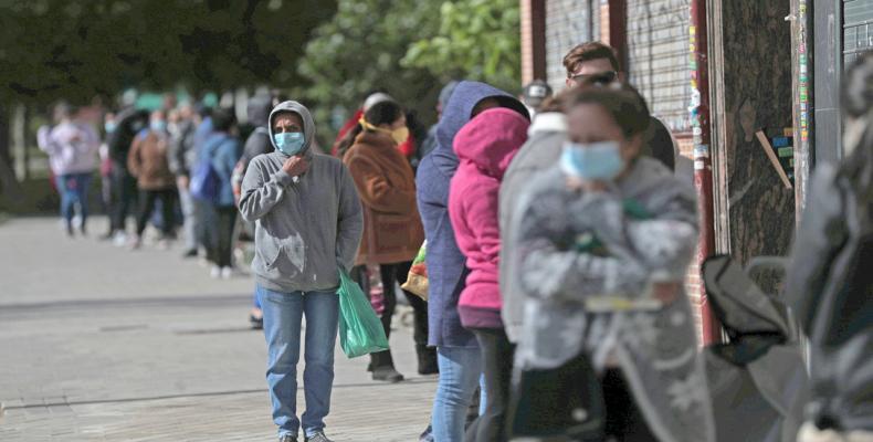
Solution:
[[[0,101],[299,82],[324,0],[0,0]]]

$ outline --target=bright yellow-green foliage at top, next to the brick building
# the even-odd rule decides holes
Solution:
[[[508,91],[520,82],[517,0],[443,2],[439,32],[417,41],[402,60],[441,80],[464,77]]]

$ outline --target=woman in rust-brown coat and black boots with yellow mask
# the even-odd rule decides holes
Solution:
[[[392,102],[372,105],[347,137],[353,139],[343,161],[349,169],[364,204],[364,240],[357,265],[378,264],[383,291],[382,327],[391,334],[397,305],[395,285],[407,281],[412,260],[424,242],[416,206],[416,177],[397,148],[408,136],[403,108]],[[428,303],[403,291],[414,309],[414,340],[419,373],[436,372],[436,357],[428,348]],[[374,380],[399,382],[391,350],[370,355]]]

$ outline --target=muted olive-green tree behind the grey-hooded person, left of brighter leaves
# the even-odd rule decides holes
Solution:
[[[431,1],[340,0],[336,15],[306,45],[298,72],[307,82],[295,95],[324,123],[337,106],[357,109],[377,90],[432,119],[442,85],[432,71],[404,67],[400,59],[412,42],[435,34],[438,14],[439,3]],[[322,131],[322,140],[333,135]]]

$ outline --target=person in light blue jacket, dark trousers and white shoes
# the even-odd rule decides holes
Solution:
[[[227,280],[233,274],[233,227],[236,223],[232,176],[242,149],[240,140],[233,134],[234,118],[230,110],[219,109],[212,114],[212,129],[214,134],[203,145],[198,157],[209,159],[219,181],[218,196],[210,201],[215,223],[207,225],[207,235],[214,246],[209,253],[215,259],[211,275]]]

